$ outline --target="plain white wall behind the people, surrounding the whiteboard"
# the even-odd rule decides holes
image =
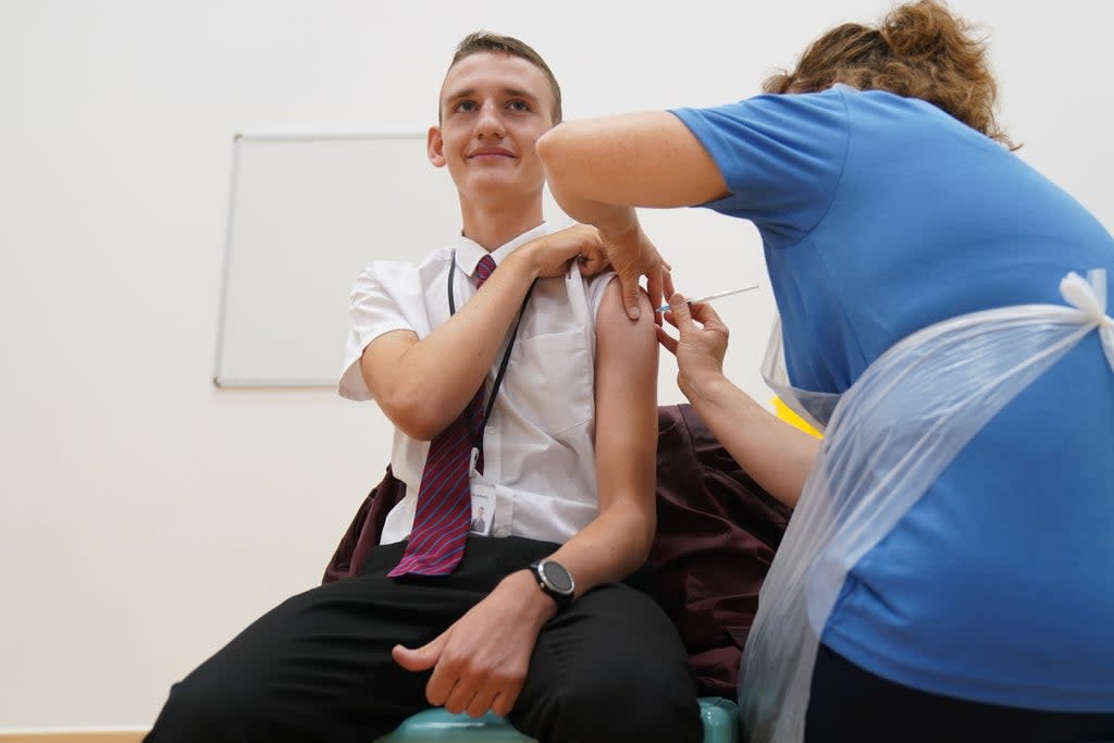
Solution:
[[[954,0],[989,25],[1020,155],[1112,227],[1100,6]],[[209,381],[233,133],[426,126],[477,28],[546,56],[568,117],[726,102],[887,7],[0,0],[0,729],[149,724],[172,682],[317,581],[382,473],[373,404]],[[764,278],[740,235],[732,255],[662,246],[680,289]],[[762,399],[771,310],[721,304]]]

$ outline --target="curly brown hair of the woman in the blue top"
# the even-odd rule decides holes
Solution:
[[[766,92],[817,92],[843,82],[920,98],[987,137],[1016,149],[995,119],[998,85],[986,41],[938,0],[891,10],[877,27],[843,23],[804,51],[792,71],[762,84]]]

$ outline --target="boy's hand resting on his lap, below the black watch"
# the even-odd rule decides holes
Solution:
[[[433,706],[472,717],[488,710],[506,715],[522,690],[538,633],[556,610],[534,577],[519,570],[432,642],[414,649],[395,645],[391,655],[407,671],[433,669],[426,684]]]

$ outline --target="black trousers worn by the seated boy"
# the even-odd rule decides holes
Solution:
[[[388,578],[404,542],[373,549],[364,575],[264,615],[175,684],[148,743],[371,743],[429,708],[431,672],[391,647],[423,645],[506,575],[557,545],[469,537],[447,577]],[[627,584],[577,599],[543,628],[511,724],[543,742],[700,741],[696,687],[676,629]]]

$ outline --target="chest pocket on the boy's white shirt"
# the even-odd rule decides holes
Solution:
[[[507,368],[511,380],[515,407],[555,438],[593,418],[594,369],[583,330],[519,339]]]

